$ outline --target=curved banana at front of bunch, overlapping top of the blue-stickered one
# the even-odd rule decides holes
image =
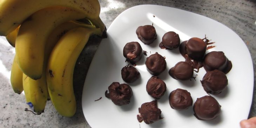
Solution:
[[[61,23],[84,16],[74,9],[54,6],[35,12],[24,21],[15,42],[17,60],[22,72],[34,80],[41,78],[49,34]]]

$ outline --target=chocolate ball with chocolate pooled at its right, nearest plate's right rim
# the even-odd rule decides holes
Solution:
[[[232,67],[231,62],[221,51],[213,51],[207,53],[206,56],[204,57],[203,65],[206,71],[217,69],[221,70],[224,73],[228,73]]]

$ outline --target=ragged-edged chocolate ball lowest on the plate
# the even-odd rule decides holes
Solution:
[[[157,108],[157,101],[146,102],[139,108],[140,115],[137,115],[139,122],[144,121],[146,124],[154,123],[162,119],[161,110]]]

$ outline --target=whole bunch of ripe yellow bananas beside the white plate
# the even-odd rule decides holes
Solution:
[[[91,35],[106,34],[97,0],[1,0],[0,35],[15,47],[11,85],[36,114],[50,98],[60,115],[76,112],[73,72]]]

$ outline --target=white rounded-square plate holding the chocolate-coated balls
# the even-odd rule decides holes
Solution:
[[[154,17],[154,16],[155,17]],[[157,40],[151,45],[144,45],[135,33],[137,27],[154,25]],[[174,31],[180,35],[181,42],[191,37],[204,38],[216,42],[215,48],[209,51],[223,51],[233,63],[233,68],[227,74],[228,88],[219,95],[213,95],[220,103],[221,114],[214,120],[197,120],[193,115],[193,107],[177,111],[170,107],[168,96],[177,88],[186,89],[191,93],[193,102],[196,98],[207,95],[200,83],[204,74],[200,68],[195,80],[178,81],[171,78],[168,70],[177,62],[184,61],[178,49],[163,50],[159,48],[164,33]],[[83,87],[82,108],[86,120],[92,128],[239,128],[239,122],[249,114],[253,92],[253,68],[250,53],[242,39],[231,29],[221,23],[202,15],[183,11],[181,9],[140,5],[127,9],[113,21],[107,30],[108,38],[103,39],[93,60]],[[104,95],[112,82],[126,83],[121,78],[121,69],[128,63],[123,57],[123,47],[127,42],[137,41],[143,50],[150,54],[158,52],[166,56],[167,68],[160,74],[167,85],[167,91],[158,100],[158,107],[164,117],[153,124],[139,123],[136,115],[138,108],[144,102],[154,100],[146,92],[146,83],[151,77],[144,65],[146,57],[136,63],[141,78],[130,83],[133,97],[129,105],[116,106]],[[150,53],[151,52],[151,53]],[[99,101],[94,101],[102,97]],[[194,103],[193,103],[194,105]]]

